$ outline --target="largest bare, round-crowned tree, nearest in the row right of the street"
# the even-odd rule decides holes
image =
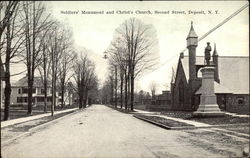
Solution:
[[[115,30],[113,43],[120,43],[118,47],[123,51],[119,51],[119,53],[122,53],[119,56],[125,58],[125,63],[128,64],[127,77],[129,78],[126,80],[128,80],[129,85],[131,110],[134,107],[135,78],[143,71],[152,68],[158,59],[156,47],[158,40],[156,37],[152,25],[146,25],[136,18],[126,20]],[[116,50],[118,49],[116,48]],[[116,61],[120,63],[124,62],[123,60]]]

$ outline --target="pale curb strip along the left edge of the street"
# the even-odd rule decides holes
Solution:
[[[24,133],[22,133],[22,134],[20,134],[20,135],[18,135],[18,136],[16,136],[16,137],[10,138],[9,140],[6,140],[6,141],[2,141],[2,142],[1,142],[1,146],[2,146],[2,145],[4,145],[4,146],[5,146],[5,145],[8,145],[9,143],[15,141],[16,139],[18,139],[18,138],[20,138],[20,137],[27,136],[27,135],[31,135],[32,132],[34,132],[35,130],[37,130],[37,129],[39,129],[39,128],[42,128],[42,127],[44,127],[44,126],[46,126],[46,125],[49,125],[49,124],[51,124],[51,123],[53,123],[53,122],[55,122],[55,121],[58,121],[58,120],[60,120],[60,119],[63,119],[63,118],[65,118],[66,116],[70,116],[70,115],[75,114],[75,113],[80,112],[80,111],[83,111],[83,110],[76,109],[76,110],[73,111],[72,113],[66,114],[66,115],[64,115],[64,116],[62,116],[62,117],[58,117],[58,118],[56,118],[56,119],[54,119],[54,120],[51,120],[51,121],[49,121],[49,122],[46,122],[46,123],[37,125],[37,126],[35,126],[35,127],[33,127],[33,128],[30,128],[28,131],[26,131],[26,132],[24,132]],[[46,117],[46,116],[45,116],[45,117]]]

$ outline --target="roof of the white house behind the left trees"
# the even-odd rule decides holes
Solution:
[[[51,86],[51,81],[48,80],[48,86]],[[28,87],[28,76],[24,76],[16,83],[13,84],[13,87]],[[41,77],[34,77],[33,87],[43,87],[43,82]]]

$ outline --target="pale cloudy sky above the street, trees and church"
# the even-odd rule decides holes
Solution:
[[[152,24],[159,40],[160,66],[136,79],[136,91],[149,91],[151,82],[157,83],[157,93],[169,89],[171,68],[176,66],[179,54],[186,48],[186,37],[193,21],[199,37],[222,22],[247,1],[47,1],[48,11],[59,21],[73,30],[75,47],[86,48],[90,58],[96,63],[96,71],[101,83],[108,73],[107,61],[103,52],[108,48],[114,30],[130,17],[141,19],[145,24]],[[208,14],[208,10],[212,14]],[[65,14],[65,12],[75,14]],[[82,11],[103,11],[104,14],[82,14]],[[106,14],[114,11],[114,14]],[[117,11],[133,14],[117,14]],[[136,14],[138,11],[150,11],[152,14]],[[155,14],[155,11],[169,11],[168,14]],[[183,14],[183,11],[186,14]],[[189,14],[189,12],[205,14]],[[218,12],[217,14],[215,12]],[[219,56],[249,56],[249,7],[215,30],[198,43],[197,55],[204,54],[207,42],[216,48]],[[185,51],[184,55],[188,55]]]

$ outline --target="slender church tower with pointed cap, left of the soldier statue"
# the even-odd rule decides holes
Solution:
[[[186,38],[187,40],[187,48],[188,48],[188,56],[189,56],[189,80],[196,79],[196,47],[198,45],[198,36],[194,31],[193,22],[191,22],[191,28],[189,34]]]

